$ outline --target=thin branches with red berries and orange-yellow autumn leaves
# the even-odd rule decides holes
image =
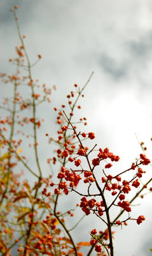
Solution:
[[[116,168],[120,157],[93,142],[95,133],[86,132],[85,117],[74,119],[74,111],[81,109],[79,100],[83,100],[83,91],[92,73],[84,86],[74,84],[60,109],[50,105],[50,111],[57,114],[57,135],[53,138],[49,130],[45,134],[46,141],[54,148],[51,157],[45,160],[50,166],[50,175],[46,177],[39,154],[45,141],[38,136],[44,120],[37,115],[37,108],[43,102],[51,104],[55,86],[47,88],[45,83],[39,86],[39,81],[32,77],[32,67],[41,60],[41,55],[38,54],[38,60],[31,64],[25,48],[25,35],[20,33],[17,9],[15,6],[11,12],[20,45],[16,47],[16,58],[10,58],[16,71],[11,75],[0,74],[1,83],[13,87],[13,95],[4,98],[1,104],[3,113],[0,116],[0,254],[83,256],[85,246],[87,256],[95,253],[113,256],[113,226],[127,225],[128,221],[140,225],[145,220],[142,212],[132,216],[132,202],[145,188],[151,191],[148,188],[151,179],[144,185],[141,183],[150,160],[142,152],[134,163],[128,163],[126,170],[113,174],[113,166]],[[29,149],[24,148],[27,144]],[[29,152],[34,164],[28,158]],[[29,180],[24,177],[27,172],[32,177]],[[123,178],[124,173],[129,173],[128,180]],[[128,201],[126,197],[133,188],[134,196]],[[75,209],[70,205],[66,211],[60,209],[60,200],[73,195],[79,198]],[[95,215],[103,228],[88,230],[86,227],[86,233],[90,233],[89,241],[84,239],[76,243],[71,234],[83,218],[73,221],[73,228],[67,228],[69,217],[74,219],[76,209],[85,218]],[[119,210],[115,217],[114,209]]]

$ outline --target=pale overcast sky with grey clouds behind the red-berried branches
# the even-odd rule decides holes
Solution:
[[[31,62],[37,54],[42,55],[33,76],[47,86],[57,86],[52,108],[64,104],[73,84],[83,86],[93,71],[80,115],[87,117],[88,129],[95,132],[98,145],[121,157],[120,170],[128,168],[141,153],[137,138],[148,146],[151,158],[151,1],[1,0],[0,72],[14,68],[8,60],[15,56],[19,42],[10,13],[16,4]],[[4,86],[1,92],[1,97],[11,93]],[[43,113],[40,109],[39,114]],[[54,114],[47,123],[50,127],[53,118]],[[150,172],[149,168],[147,177],[151,177]],[[147,223],[116,229],[116,256],[151,255],[150,202],[151,196],[147,196],[134,207],[134,214],[145,215]]]

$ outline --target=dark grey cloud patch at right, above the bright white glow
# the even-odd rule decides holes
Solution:
[[[142,71],[145,70],[149,61],[151,61],[152,31],[146,33],[142,31],[142,35],[134,40],[125,40],[121,46],[121,49],[117,49],[121,60],[109,56],[107,52],[102,52],[97,58],[98,65],[102,67],[107,76],[116,81],[127,79],[127,76],[130,76],[132,72],[139,79],[143,74],[141,69]],[[145,83],[146,81],[144,81]]]

